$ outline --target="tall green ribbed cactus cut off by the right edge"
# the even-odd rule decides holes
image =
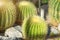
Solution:
[[[48,15],[60,22],[60,2],[58,0],[49,1]]]

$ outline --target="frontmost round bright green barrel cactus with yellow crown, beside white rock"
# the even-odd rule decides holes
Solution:
[[[31,16],[23,21],[22,33],[26,40],[45,40],[47,23],[39,16]]]

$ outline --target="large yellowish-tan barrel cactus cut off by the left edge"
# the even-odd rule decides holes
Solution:
[[[0,1],[0,31],[12,26],[16,20],[16,9],[12,2]]]

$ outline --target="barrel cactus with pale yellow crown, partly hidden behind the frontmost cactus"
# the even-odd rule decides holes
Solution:
[[[20,24],[23,20],[29,16],[37,15],[37,9],[35,5],[29,1],[21,1],[17,3],[18,17],[17,23]]]

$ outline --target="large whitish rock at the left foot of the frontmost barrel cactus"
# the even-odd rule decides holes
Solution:
[[[5,36],[22,38],[21,30],[22,30],[22,28],[20,26],[11,27],[5,31]]]

